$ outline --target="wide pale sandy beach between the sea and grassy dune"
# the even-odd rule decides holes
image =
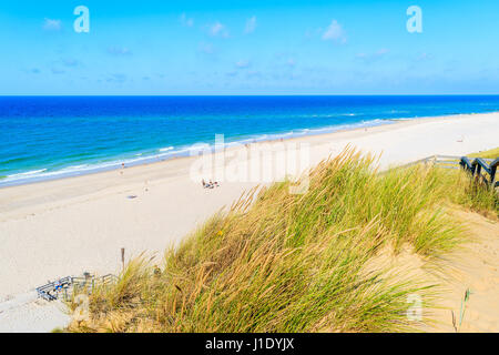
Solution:
[[[310,165],[352,144],[383,152],[380,164],[386,168],[432,154],[496,148],[498,138],[499,113],[490,113],[400,121],[291,141],[310,144]],[[183,158],[0,189],[0,301],[48,280],[85,271],[116,273],[121,247],[126,256],[142,251],[161,256],[165,247],[257,184],[222,182],[221,187],[202,189],[190,178],[194,161]]]

